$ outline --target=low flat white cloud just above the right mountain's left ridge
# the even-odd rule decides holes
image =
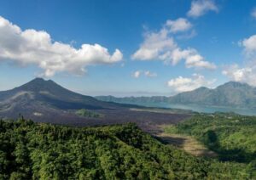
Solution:
[[[175,79],[171,79],[167,82],[168,87],[172,87],[177,93],[193,91],[198,87],[211,86],[215,79],[207,81],[205,76],[199,74],[193,74],[192,77],[178,76]]]

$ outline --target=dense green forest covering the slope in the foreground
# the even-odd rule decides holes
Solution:
[[[255,175],[253,162],[188,155],[131,123],[65,127],[22,118],[0,121],[0,144],[0,179],[245,179]]]

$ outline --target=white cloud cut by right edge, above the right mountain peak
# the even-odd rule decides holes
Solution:
[[[256,86],[256,35],[239,42],[243,48],[244,65],[228,65],[224,67],[223,74],[231,81],[246,82]]]

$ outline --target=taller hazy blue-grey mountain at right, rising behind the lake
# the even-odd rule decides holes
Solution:
[[[227,107],[256,107],[256,88],[240,82],[227,82],[215,89],[201,87],[169,98],[169,103]]]

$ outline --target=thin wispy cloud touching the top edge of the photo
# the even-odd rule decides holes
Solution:
[[[196,18],[206,14],[208,11],[218,12],[218,7],[213,0],[194,0],[191,3],[188,16]]]

